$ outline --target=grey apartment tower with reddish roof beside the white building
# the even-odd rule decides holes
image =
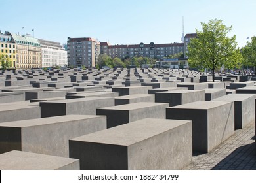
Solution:
[[[95,67],[100,54],[100,42],[91,37],[68,37],[68,65]]]

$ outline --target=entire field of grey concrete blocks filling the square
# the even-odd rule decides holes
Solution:
[[[0,169],[186,169],[255,130],[253,78],[216,74],[213,82],[210,73],[157,68],[0,71]]]

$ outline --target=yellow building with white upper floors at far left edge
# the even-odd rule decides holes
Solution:
[[[8,56],[11,61],[10,67],[16,67],[16,46],[12,39],[12,36],[5,32],[5,34],[0,31],[0,56]]]

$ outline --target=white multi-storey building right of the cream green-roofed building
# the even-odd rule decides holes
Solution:
[[[42,48],[42,67],[68,65],[68,54],[60,42],[38,39]]]

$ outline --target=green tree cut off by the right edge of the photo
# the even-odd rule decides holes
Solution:
[[[247,41],[247,44],[242,48],[243,65],[256,66],[256,37],[251,38],[251,42]]]

